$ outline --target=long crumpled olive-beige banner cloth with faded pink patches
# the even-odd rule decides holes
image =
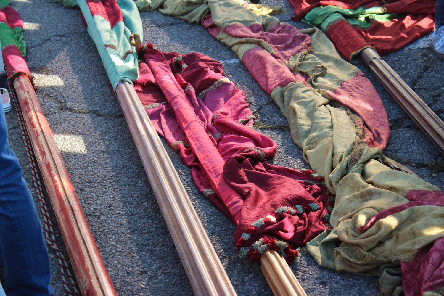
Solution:
[[[336,193],[329,219],[334,229],[325,233],[339,232],[341,236],[328,248],[309,247],[309,253],[319,264],[335,270],[381,276],[381,291],[392,292],[399,284],[393,284],[388,276],[393,267],[399,268],[403,260],[412,260],[422,247],[444,235],[444,227],[436,218],[443,217],[444,208],[425,205],[433,207],[436,217],[420,216],[421,206],[404,209],[396,214],[409,219],[395,224],[392,221],[397,219],[396,214],[390,215],[366,230],[362,234],[367,237],[365,240],[354,239],[362,233],[360,227],[377,213],[408,203],[410,190],[423,195],[440,192],[436,186],[384,164],[396,166],[381,153],[388,140],[389,126],[381,99],[368,79],[343,61],[319,30],[297,30],[276,18],[258,15],[244,1],[135,3],[141,11],[159,9],[190,22],[200,22],[238,55],[281,108],[294,142],[302,148],[312,169],[325,177],[329,191]],[[434,229],[432,235],[412,230],[416,228],[410,225],[416,222],[417,227],[430,225]],[[416,236],[414,248],[396,244],[396,239],[408,241],[412,236]],[[312,242],[317,244],[316,240]],[[336,248],[337,244],[351,245],[343,249],[352,249],[358,258],[368,257],[375,262],[372,265],[362,264],[357,258],[347,260],[341,255],[341,248]],[[378,249],[379,244],[385,248]],[[332,262],[328,258],[334,263],[327,264]],[[416,272],[415,268],[410,274]],[[408,274],[404,272],[403,276]]]

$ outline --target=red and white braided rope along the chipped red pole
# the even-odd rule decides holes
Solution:
[[[12,99],[12,103],[16,108],[16,114],[19,120],[20,130],[22,131],[25,150],[26,154],[28,155],[29,166],[31,168],[32,181],[34,182],[34,187],[36,189],[37,196],[40,202],[41,214],[45,224],[45,229],[44,229],[45,241],[48,243],[50,248],[56,252],[57,259],[59,260],[60,273],[62,275],[62,281],[63,281],[63,286],[65,288],[65,292],[67,293],[67,295],[70,296],[74,295],[80,296],[77,284],[75,283],[74,277],[71,275],[69,263],[63,256],[62,251],[59,249],[56,243],[56,235],[54,233],[54,229],[52,228],[51,217],[49,216],[49,211],[44,197],[43,188],[40,182],[39,169],[38,166],[36,165],[36,158],[32,150],[32,144],[28,136],[28,131],[26,130],[23,114],[20,108],[19,100],[16,95],[16,91],[14,90],[11,81],[9,81],[8,86],[9,86],[8,87],[9,97]],[[67,282],[66,276],[69,278],[69,284]],[[68,287],[68,285],[71,286],[72,290],[74,291],[74,294],[73,292],[71,292],[71,289]]]

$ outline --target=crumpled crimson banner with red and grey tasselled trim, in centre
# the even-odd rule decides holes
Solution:
[[[139,75],[135,89],[151,122],[180,151],[198,189],[238,225],[241,255],[254,260],[275,249],[291,261],[291,246],[326,228],[333,197],[322,178],[268,164],[277,146],[251,128],[243,91],[225,78],[221,63],[148,44]]]

